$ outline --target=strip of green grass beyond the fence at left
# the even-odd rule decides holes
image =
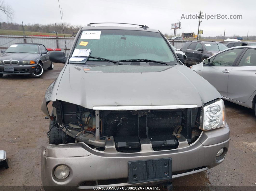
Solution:
[[[0,29],[0,35],[23,35],[23,31],[16,31],[16,30],[3,30]],[[51,35],[51,36],[56,36],[55,33],[46,33],[46,32],[30,32],[30,31],[25,31],[26,36],[32,36],[32,35]],[[59,34],[58,36],[64,36],[64,34]],[[66,37],[72,36],[71,34],[65,34]]]

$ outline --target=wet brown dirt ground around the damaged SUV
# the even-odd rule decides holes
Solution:
[[[37,79],[19,75],[0,78],[0,149],[7,152],[9,165],[9,169],[0,168],[0,190],[41,186],[41,146],[48,142],[49,120],[40,108],[47,87],[63,66],[55,64],[54,70]],[[189,190],[231,189],[227,186],[250,190],[252,187],[246,186],[256,186],[254,111],[228,101],[225,105],[231,139],[226,159],[213,169],[173,180],[175,190],[183,190],[182,186],[191,186]]]

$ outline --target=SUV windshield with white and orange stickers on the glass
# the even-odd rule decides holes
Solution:
[[[167,42],[157,32],[136,30],[82,31],[76,49],[90,49],[90,56],[111,60],[148,59],[176,63]],[[76,50],[75,49],[75,50]],[[73,55],[72,56],[76,56]],[[97,59],[89,58],[93,61]]]

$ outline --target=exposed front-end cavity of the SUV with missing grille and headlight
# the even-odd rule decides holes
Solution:
[[[93,149],[104,151],[106,141],[113,140],[117,152],[140,152],[142,140],[149,140],[153,150],[176,149],[178,139],[188,144],[196,141],[201,108],[140,106],[95,107],[87,109],[65,101],[53,101],[55,125],[74,142],[86,143]],[[189,107],[189,106],[183,106]],[[65,143],[65,142],[64,142]]]

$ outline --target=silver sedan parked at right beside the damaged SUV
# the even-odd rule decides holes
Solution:
[[[256,115],[256,46],[229,48],[190,68],[223,99],[254,109]]]

